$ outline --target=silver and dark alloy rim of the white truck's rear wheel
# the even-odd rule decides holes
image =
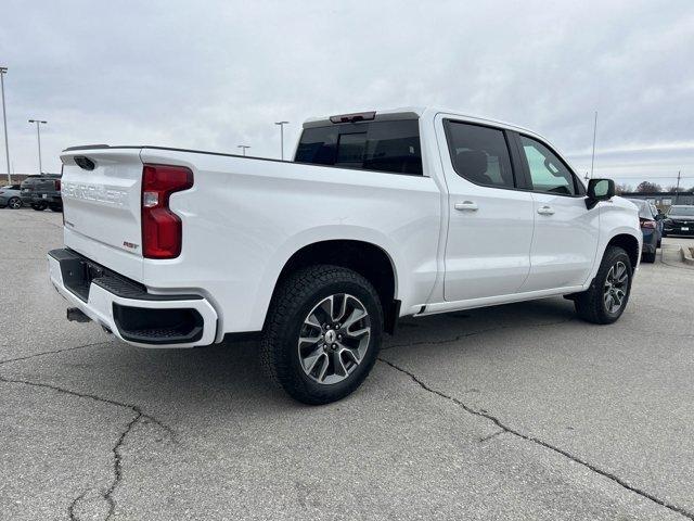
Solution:
[[[320,301],[301,325],[298,355],[306,376],[321,384],[345,380],[361,364],[371,318],[359,298],[337,293]]]

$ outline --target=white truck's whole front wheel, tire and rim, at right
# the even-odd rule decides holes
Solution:
[[[631,292],[632,267],[619,246],[608,246],[590,288],[574,300],[576,313],[593,323],[613,323],[624,313]]]

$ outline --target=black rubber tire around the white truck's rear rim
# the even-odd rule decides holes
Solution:
[[[318,304],[331,295],[338,294],[354,295],[363,306],[370,321],[370,336],[360,361],[350,368],[350,372],[345,371],[346,376],[337,376],[344,378],[342,381],[319,383],[305,372],[301,365],[299,336],[301,331],[305,331],[303,328],[307,327],[305,320],[317,309]],[[326,325],[324,327],[327,328]],[[323,329],[317,329],[320,330],[322,339]],[[369,376],[378,356],[382,333],[381,301],[367,279],[350,269],[337,266],[311,266],[291,275],[278,288],[264,328],[260,356],[270,377],[294,399],[309,405],[329,404],[354,392]],[[327,338],[327,333],[324,336]],[[319,341],[319,344],[320,342],[323,341]],[[309,351],[313,348],[314,353],[319,353],[322,347],[309,344]],[[318,356],[325,356],[324,364],[330,367],[330,364],[334,364],[331,356],[340,355],[331,354],[329,347],[329,353]],[[347,364],[351,363],[348,360]],[[335,369],[335,366],[333,368]]]

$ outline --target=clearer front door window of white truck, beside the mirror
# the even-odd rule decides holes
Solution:
[[[528,162],[532,190],[576,195],[574,175],[550,149],[526,136],[520,136],[520,144]]]

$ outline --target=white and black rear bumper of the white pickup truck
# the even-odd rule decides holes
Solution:
[[[72,250],[48,254],[51,282],[91,320],[140,347],[209,345],[217,313],[201,295],[153,294]]]

